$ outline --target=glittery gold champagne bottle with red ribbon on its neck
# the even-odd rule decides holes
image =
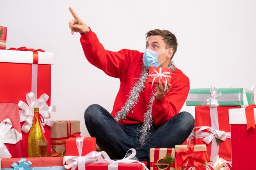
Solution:
[[[41,123],[44,123],[43,116],[39,113],[39,108],[35,107],[33,124],[30,129],[27,144],[28,157],[39,157],[38,140],[45,140]]]

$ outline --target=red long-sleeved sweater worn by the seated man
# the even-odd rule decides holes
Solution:
[[[139,78],[143,64],[143,53],[136,50],[123,49],[118,52],[105,50],[99,42],[96,34],[91,30],[87,34],[81,34],[80,38],[85,57],[88,61],[103,70],[109,76],[120,79],[120,88],[115,99],[111,115],[120,111],[126,103],[129,92]],[[161,126],[167,120],[179,113],[188,93],[189,78],[177,69],[172,75],[171,90],[164,98],[155,99],[152,106],[152,118],[154,126]],[[119,124],[142,124],[144,113],[147,111],[148,102],[152,96],[151,84],[146,83],[145,89],[140,93],[139,102],[132,108],[124,121]]]

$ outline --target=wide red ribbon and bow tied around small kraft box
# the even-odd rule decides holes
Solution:
[[[208,155],[206,151],[197,151],[194,152],[195,145],[187,146],[188,150],[180,149],[175,157],[175,170],[177,167],[185,166],[188,162],[187,166],[194,166],[197,170],[205,170],[202,162],[208,160]]]

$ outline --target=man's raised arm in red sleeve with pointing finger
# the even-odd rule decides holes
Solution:
[[[69,10],[74,17],[74,20],[69,22],[71,33],[79,32],[81,34],[80,41],[87,60],[109,76],[121,78],[121,74],[126,72],[130,64],[132,50],[118,52],[105,50],[96,34],[76,15],[71,7]]]

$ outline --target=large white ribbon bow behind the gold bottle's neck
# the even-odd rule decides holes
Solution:
[[[30,92],[26,94],[26,100],[27,103],[23,101],[19,101],[18,106],[21,109],[20,110],[20,122],[25,121],[23,124],[21,130],[25,133],[28,133],[31,126],[32,126],[32,121],[34,117],[34,108],[39,107],[39,111],[41,115],[43,116],[45,122],[42,124],[45,126],[47,124],[48,126],[52,126],[54,123],[54,120],[50,118],[50,113],[56,111],[55,106],[48,106],[46,104],[47,100],[49,99],[49,96],[47,94],[42,94],[40,98],[36,99],[35,95],[33,92]],[[28,105],[27,105],[28,104]],[[43,128],[43,132],[45,133],[45,129]]]

